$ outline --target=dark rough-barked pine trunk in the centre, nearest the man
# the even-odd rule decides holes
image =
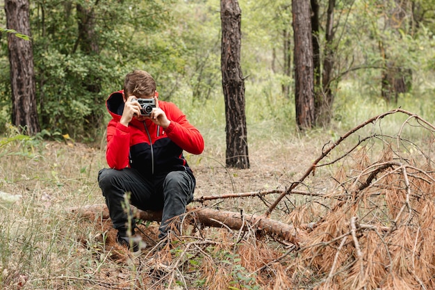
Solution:
[[[221,0],[222,87],[225,98],[227,167],[249,168],[245,115],[245,81],[240,68],[240,19],[237,0]]]

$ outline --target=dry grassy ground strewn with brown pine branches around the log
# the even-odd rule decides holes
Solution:
[[[313,195],[288,193],[279,202],[271,217],[298,228],[299,247],[264,236],[255,225],[244,230],[185,225],[183,236],[156,250],[158,225],[144,223],[148,247],[141,255],[115,243],[110,220],[66,212],[104,202],[96,182],[104,150],[36,140],[3,144],[0,191],[22,199],[0,203],[0,285],[434,289],[434,128],[417,120],[402,124],[386,132],[375,121],[350,134],[297,184],[295,189]],[[252,167],[234,170],[222,166],[222,145],[208,140],[204,154],[188,156],[197,176],[195,195],[286,191],[327,142],[318,136],[262,139],[249,147]],[[278,195],[210,200],[204,206],[264,214]]]

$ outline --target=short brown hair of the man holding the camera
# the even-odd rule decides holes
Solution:
[[[151,74],[143,70],[133,70],[125,76],[124,80],[124,95],[129,97],[154,97],[156,92],[156,81]]]

